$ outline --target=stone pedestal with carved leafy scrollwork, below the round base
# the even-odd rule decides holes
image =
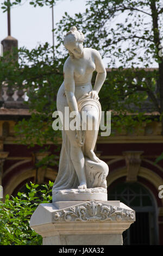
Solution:
[[[43,245],[122,245],[122,233],[135,211],[120,201],[71,201],[40,204],[30,227]]]

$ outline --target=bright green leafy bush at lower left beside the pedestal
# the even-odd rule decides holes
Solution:
[[[41,203],[52,202],[53,182],[26,184],[27,192],[0,200],[0,245],[41,245],[42,237],[29,227],[30,217]]]

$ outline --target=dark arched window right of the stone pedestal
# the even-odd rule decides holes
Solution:
[[[154,199],[147,188],[139,182],[121,182],[108,190],[108,200],[120,200],[136,212],[135,223],[123,232],[124,245],[158,244]]]

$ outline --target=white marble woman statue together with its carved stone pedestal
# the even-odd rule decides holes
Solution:
[[[123,231],[135,221],[135,211],[127,205],[108,201],[109,168],[94,153],[102,115],[98,93],[106,71],[99,52],[83,48],[83,40],[76,27],[70,28],[64,40],[70,57],[57,94],[63,126],[59,171],[52,203],[40,204],[30,218],[30,227],[43,237],[43,245],[122,245]],[[97,76],[92,89],[94,70]],[[70,119],[67,109],[74,113]],[[71,126],[73,122],[74,129],[67,129],[67,123]]]

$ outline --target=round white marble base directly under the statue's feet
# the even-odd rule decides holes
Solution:
[[[52,190],[53,203],[58,201],[106,201],[108,198],[107,190],[103,187],[85,188],[69,190]]]

